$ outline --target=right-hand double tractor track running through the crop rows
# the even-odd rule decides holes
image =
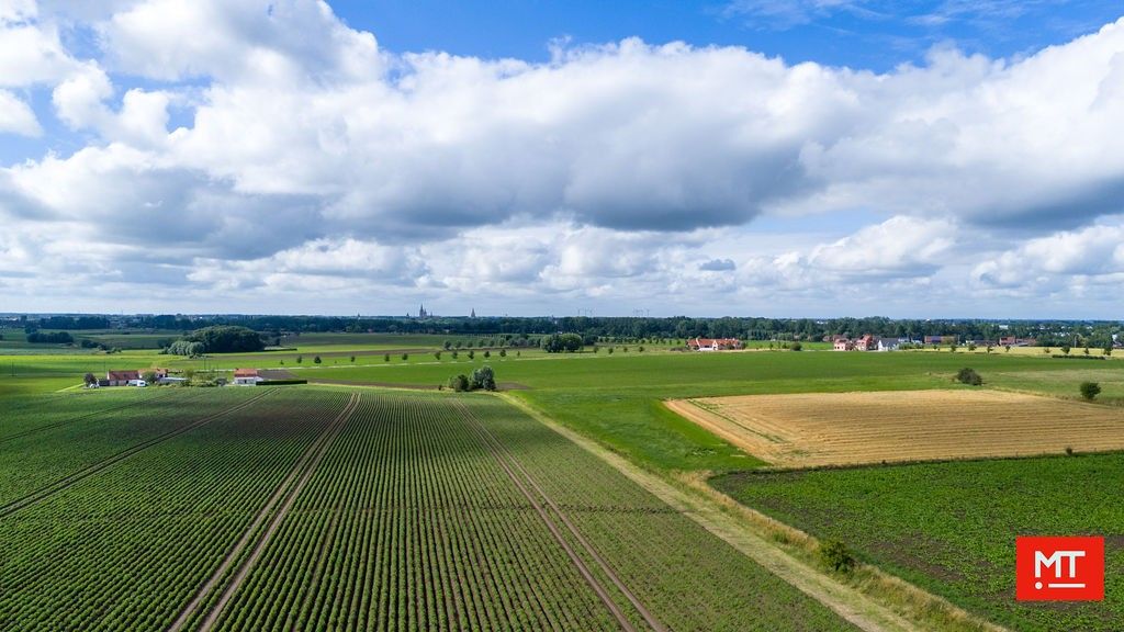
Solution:
[[[613,581],[614,586],[616,586],[617,589],[620,590],[620,593],[633,605],[633,607],[636,608],[636,612],[638,612],[640,615],[644,617],[644,621],[651,626],[651,629],[658,632],[665,632],[668,630],[667,626],[664,626],[660,622],[660,620],[656,619],[647,610],[646,606],[644,606],[644,604],[636,597],[636,595],[634,595],[633,592],[628,589],[628,587],[625,585],[624,581],[622,581],[620,577],[616,574],[616,571],[613,570],[613,568],[597,552],[597,550],[592,547],[592,544],[590,544],[589,541],[581,535],[581,533],[578,531],[574,524],[570,522],[570,518],[566,517],[566,515],[562,512],[561,507],[559,507],[559,505],[554,502],[554,499],[551,498],[546,494],[546,491],[538,486],[538,482],[535,481],[533,476],[531,476],[531,472],[528,472],[523,467],[523,464],[515,459],[515,457],[510,453],[510,451],[508,451],[507,448],[505,448],[504,444],[500,443],[498,439],[496,439],[496,435],[492,434],[491,431],[489,431],[488,427],[484,426],[480,422],[480,419],[478,419],[477,416],[471,410],[469,410],[466,406],[464,406],[463,403],[457,401],[456,406],[457,408],[461,409],[465,419],[470,422],[470,425],[477,431],[477,434],[480,436],[480,440],[484,443],[484,445],[488,448],[491,454],[496,458],[496,461],[500,464],[501,468],[504,468],[504,471],[507,472],[507,476],[511,479],[511,482],[515,484],[515,486],[519,489],[519,491],[523,493],[523,495],[527,498],[527,500],[538,513],[538,516],[546,524],[546,527],[550,530],[551,534],[554,535],[554,539],[558,540],[559,544],[561,544],[562,548],[565,550],[566,554],[570,557],[570,560],[573,561],[574,566],[578,568],[578,571],[590,585],[593,592],[597,593],[597,596],[601,598],[606,607],[613,614],[614,619],[616,619],[617,622],[620,624],[620,628],[628,632],[634,632],[636,630],[636,628],[632,624],[632,622],[628,621],[628,617],[625,616],[624,612],[620,610],[620,606],[618,606],[617,603],[613,601],[613,598],[609,596],[608,592],[605,589],[601,583],[598,581],[596,577],[593,577],[592,572],[589,570],[589,567],[586,565],[586,562],[581,559],[580,556],[578,556],[573,547],[571,547],[571,544],[562,535],[561,531],[559,530],[559,526],[554,523],[554,521],[551,520],[550,513],[543,507],[542,503],[540,503],[535,498],[535,495],[527,489],[528,485],[532,488],[534,488],[535,493],[537,493],[537,495],[542,498],[542,500],[545,502],[546,505],[553,511],[554,515],[558,516],[558,520],[561,521],[561,523],[565,526],[568,531],[570,531],[570,533],[578,541],[578,543],[581,544],[581,548],[586,550],[586,553],[597,562],[597,565],[601,569],[601,572],[604,572],[609,578],[609,580]],[[516,470],[518,470],[519,475],[522,475],[523,480],[520,480],[520,476],[513,470],[513,467]]]

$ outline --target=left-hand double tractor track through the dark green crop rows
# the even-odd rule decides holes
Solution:
[[[206,632],[214,628],[215,623],[218,622],[218,617],[226,608],[226,605],[238,592],[243,583],[245,583],[246,577],[250,576],[250,571],[253,570],[257,559],[261,558],[262,553],[265,551],[265,548],[273,539],[273,534],[278,529],[280,529],[284,517],[289,515],[289,509],[292,507],[293,503],[296,503],[297,497],[300,496],[305,485],[312,477],[312,473],[316,471],[317,466],[319,466],[324,454],[327,453],[328,448],[330,448],[335,442],[336,436],[338,436],[341,431],[343,431],[347,421],[355,414],[355,409],[359,408],[359,403],[360,395],[357,392],[353,392],[351,399],[347,401],[347,405],[344,406],[344,409],[341,410],[339,415],[337,415],[336,418],[324,428],[317,440],[308,446],[303,454],[301,454],[301,458],[293,466],[289,476],[285,477],[261,511],[257,512],[257,515],[254,516],[254,521],[246,529],[245,534],[243,534],[242,539],[237,542],[237,544],[235,544],[234,549],[227,553],[226,558],[215,572],[211,574],[211,577],[207,580],[207,583],[199,588],[191,602],[183,607],[175,622],[167,629],[169,632],[179,632],[184,628],[184,625],[187,625],[187,623],[196,614],[196,611],[199,610],[200,604],[211,596],[215,588],[230,571],[230,568],[241,559],[242,563],[237,566],[236,572],[229,578],[226,588],[223,589],[218,601],[212,606],[207,608],[206,612],[199,613],[200,615],[205,615],[205,617],[197,630],[199,632]],[[280,507],[278,507],[279,503]],[[262,523],[264,523],[266,517],[271,514],[272,520],[270,520],[265,525],[265,530],[257,538],[257,542],[253,544],[252,549],[248,549],[247,553],[247,547],[250,547],[251,542],[254,540],[254,535],[262,529]]]

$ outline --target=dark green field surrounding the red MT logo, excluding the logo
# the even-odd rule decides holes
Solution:
[[[1120,630],[1124,454],[742,472],[711,485],[1019,631]],[[1014,599],[1016,535],[1106,536],[1103,603]]]

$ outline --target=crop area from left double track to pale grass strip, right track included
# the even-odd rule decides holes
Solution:
[[[364,401],[215,628],[850,629],[499,400]]]

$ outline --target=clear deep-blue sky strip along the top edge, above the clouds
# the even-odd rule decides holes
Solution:
[[[546,61],[552,42],[745,46],[790,63],[883,72],[935,45],[1012,57],[1064,44],[1121,15],[1096,0],[386,0],[337,2],[392,51]]]

